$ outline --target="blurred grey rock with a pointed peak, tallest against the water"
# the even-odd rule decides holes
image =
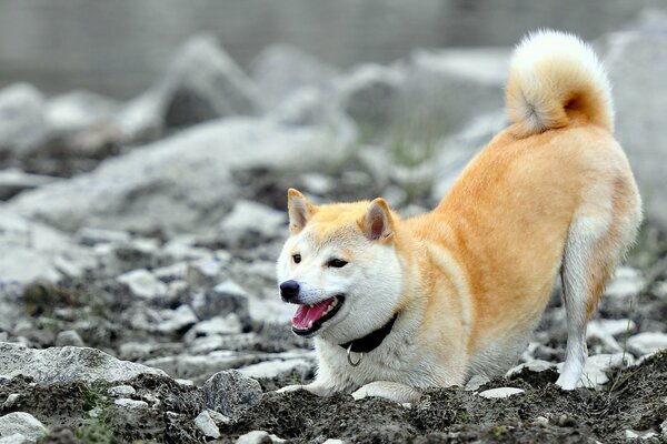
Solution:
[[[262,108],[256,85],[211,36],[198,36],[186,42],[160,87],[167,127],[251,115]]]

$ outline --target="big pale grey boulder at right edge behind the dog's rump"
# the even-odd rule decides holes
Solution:
[[[656,26],[657,23],[660,26]],[[656,12],[650,27],[638,26],[603,39],[604,63],[614,87],[616,137],[628,154],[647,219],[667,226],[667,186],[660,162],[667,157],[667,18]]]

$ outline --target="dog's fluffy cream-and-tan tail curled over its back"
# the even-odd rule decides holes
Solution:
[[[607,73],[593,48],[569,33],[524,38],[511,57],[506,107],[519,137],[566,127],[575,113],[614,131]]]

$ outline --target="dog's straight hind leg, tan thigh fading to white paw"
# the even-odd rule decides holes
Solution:
[[[563,299],[567,314],[565,364],[556,384],[576,389],[587,357],[586,324],[605,283],[631,245],[641,220],[633,186],[591,193],[588,205],[573,220],[561,265]],[[607,198],[607,199],[605,199]]]

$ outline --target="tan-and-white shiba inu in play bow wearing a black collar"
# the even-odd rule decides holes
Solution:
[[[577,386],[586,324],[635,240],[641,202],[614,140],[605,70],[574,36],[540,31],[516,48],[510,127],[427,214],[382,199],[313,205],[289,190],[280,294],[292,330],[315,337],[319,394],[412,402],[512,364],[560,275],[566,361]],[[295,390],[300,386],[289,386]]]

